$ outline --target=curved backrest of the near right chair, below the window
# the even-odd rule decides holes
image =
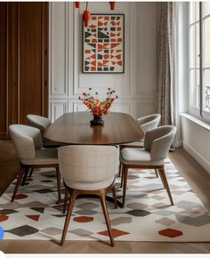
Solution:
[[[174,125],[162,125],[146,132],[144,149],[150,151],[151,160],[160,160],[167,157],[175,133],[176,127]]]

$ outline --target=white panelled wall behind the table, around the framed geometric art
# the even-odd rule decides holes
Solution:
[[[112,110],[133,117],[155,112],[157,3],[89,2],[92,13],[125,13],[125,74],[82,73],[82,13],[74,3],[50,3],[50,107],[52,121],[65,112],[85,110],[78,94],[89,87],[101,93],[113,87],[119,99]],[[104,93],[104,94],[103,94]]]

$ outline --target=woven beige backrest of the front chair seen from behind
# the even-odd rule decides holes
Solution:
[[[58,150],[61,176],[69,181],[105,181],[117,173],[115,146],[71,145]]]

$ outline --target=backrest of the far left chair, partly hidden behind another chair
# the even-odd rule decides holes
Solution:
[[[36,127],[40,130],[42,136],[47,127],[49,127],[52,123],[51,120],[47,117],[41,117],[37,115],[27,115],[28,125]]]

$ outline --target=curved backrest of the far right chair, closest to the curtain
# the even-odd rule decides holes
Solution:
[[[153,114],[146,117],[140,117],[136,119],[136,122],[141,125],[143,133],[146,133],[148,130],[158,127],[160,117],[160,114]]]

